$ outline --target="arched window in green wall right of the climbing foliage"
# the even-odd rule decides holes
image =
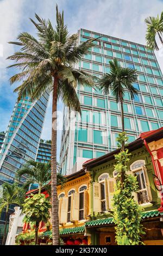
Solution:
[[[144,160],[138,160],[131,164],[131,171],[137,178],[139,189],[137,190],[137,201],[139,204],[145,204],[152,200],[151,189]]]

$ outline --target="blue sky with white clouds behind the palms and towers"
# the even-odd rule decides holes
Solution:
[[[6,58],[15,48],[7,42],[15,40],[18,33],[23,31],[35,34],[35,28],[29,21],[29,17],[34,18],[35,13],[45,19],[51,19],[55,24],[56,3],[60,10],[64,9],[65,23],[70,33],[77,32],[79,28],[86,28],[141,44],[145,44],[145,18],[160,15],[163,10],[162,0],[0,0],[0,131],[7,129],[16,101],[14,87],[10,87],[8,82],[15,70],[6,69],[9,65]],[[162,57],[158,56],[158,53],[156,55],[163,69]],[[62,111],[61,102],[59,110]],[[60,135],[61,131],[58,132],[58,153]],[[42,138],[51,138],[51,101]]]

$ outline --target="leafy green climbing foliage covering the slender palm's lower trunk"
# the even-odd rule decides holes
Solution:
[[[119,147],[124,141],[127,142],[126,133],[120,133],[117,141]],[[118,174],[116,191],[113,197],[113,211],[118,245],[140,245],[142,243],[141,234],[145,234],[140,224],[141,209],[133,196],[133,192],[136,192],[138,187],[136,177],[127,174],[129,157],[128,149],[121,150],[120,153],[115,155],[117,160],[115,170]],[[121,182],[122,173],[125,175],[123,184]]]

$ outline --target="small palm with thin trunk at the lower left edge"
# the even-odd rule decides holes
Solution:
[[[2,198],[0,198],[0,216],[2,211],[5,211],[5,225],[4,225],[4,236],[2,240],[2,245],[5,245],[5,240],[7,236],[7,223],[8,223],[8,212],[9,205],[16,204],[22,206],[25,192],[17,183],[8,184],[4,183]]]

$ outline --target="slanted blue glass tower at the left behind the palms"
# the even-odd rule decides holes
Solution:
[[[45,93],[35,102],[29,97],[16,102],[0,151],[0,185],[14,182],[17,169],[36,160],[48,99]]]

